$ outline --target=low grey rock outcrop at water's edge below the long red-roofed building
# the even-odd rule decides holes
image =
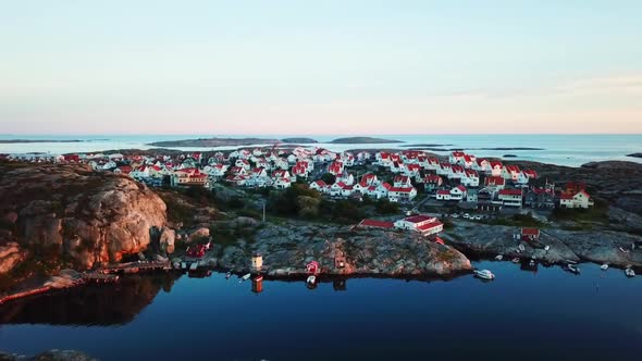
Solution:
[[[459,251],[410,232],[289,224],[267,226],[254,238],[226,247],[208,264],[246,272],[260,253],[262,271],[275,277],[305,275],[312,260],[329,275],[454,276],[472,270]]]

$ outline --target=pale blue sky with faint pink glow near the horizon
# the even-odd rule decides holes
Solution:
[[[0,9],[0,134],[642,133],[640,0]]]

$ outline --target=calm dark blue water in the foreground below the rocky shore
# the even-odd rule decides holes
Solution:
[[[79,349],[102,360],[634,360],[642,277],[582,265],[497,279],[251,283],[169,276],[0,308],[0,349]],[[338,286],[338,290],[335,289]]]

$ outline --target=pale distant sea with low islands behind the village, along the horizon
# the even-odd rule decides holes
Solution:
[[[334,145],[329,141],[355,135],[305,136],[318,140],[316,145],[333,151],[348,149],[409,149],[436,148],[436,154],[447,154],[447,149],[464,149],[477,157],[503,158],[517,155],[514,160],[528,160],[557,165],[580,166],[592,161],[631,161],[642,162],[640,158],[627,157],[642,152],[642,135],[378,135],[379,138],[400,140],[394,144]],[[0,140],[82,140],[78,142],[22,142],[0,144],[0,153],[44,152],[52,154],[75,152],[99,152],[113,149],[149,149],[150,142],[161,140],[180,140],[211,137],[259,137],[282,139],[292,135],[0,135]],[[420,145],[420,147],[410,147]],[[421,147],[430,145],[431,147]],[[256,146],[272,146],[271,144]],[[219,148],[181,148],[185,151],[229,150],[238,147]],[[540,150],[492,150],[492,148],[538,148]]]

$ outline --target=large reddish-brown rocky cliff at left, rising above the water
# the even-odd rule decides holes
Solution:
[[[0,245],[48,249],[82,267],[146,249],[166,217],[144,185],[84,165],[0,165]]]

